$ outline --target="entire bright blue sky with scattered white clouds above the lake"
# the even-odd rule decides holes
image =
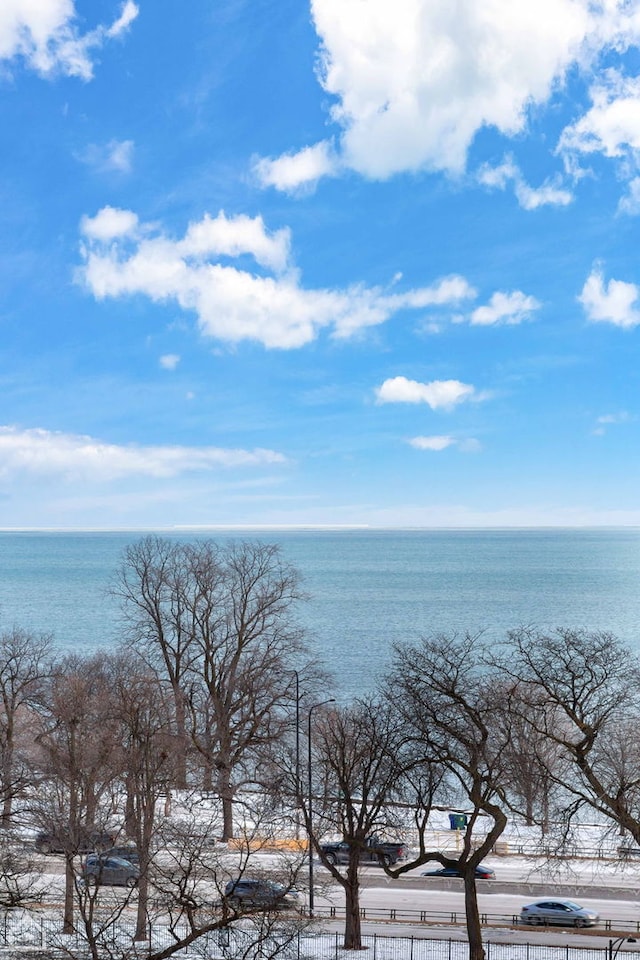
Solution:
[[[0,527],[640,523],[640,0],[4,0],[0,111]]]

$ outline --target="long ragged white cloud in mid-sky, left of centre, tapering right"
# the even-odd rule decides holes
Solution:
[[[143,294],[174,300],[197,314],[204,336],[228,343],[250,339],[291,349],[321,329],[348,337],[384,323],[400,310],[459,304],[475,296],[463,277],[444,277],[404,293],[353,285],[310,290],[291,263],[288,229],[269,232],[261,217],[208,215],[172,240],[134,213],[105,207],[80,224],[84,265],[79,278],[98,299]],[[252,258],[274,276],[221,261]]]

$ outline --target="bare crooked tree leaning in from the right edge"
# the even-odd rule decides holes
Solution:
[[[512,712],[530,741],[552,751],[545,772],[566,797],[565,833],[588,805],[640,844],[637,656],[606,632],[521,628],[494,662],[513,682]]]

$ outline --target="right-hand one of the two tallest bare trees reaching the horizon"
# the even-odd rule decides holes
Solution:
[[[269,544],[231,543],[210,572],[211,545],[192,547],[195,643],[200,671],[192,699],[193,741],[216,772],[222,837],[233,836],[238,789],[256,782],[257,768],[284,735],[291,705],[291,668],[304,653],[293,618],[301,599],[298,573]],[[204,562],[203,562],[204,561]],[[197,692],[200,698],[197,697]],[[203,730],[197,718],[206,717]]]

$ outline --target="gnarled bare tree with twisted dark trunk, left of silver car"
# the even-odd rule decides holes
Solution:
[[[470,960],[484,960],[475,868],[492,849],[507,824],[504,749],[508,731],[495,722],[495,701],[502,684],[485,666],[478,636],[424,638],[398,645],[390,690],[416,750],[426,762],[447,773],[449,803],[469,807],[459,858],[425,848],[404,872],[428,860],[456,867],[464,883]]]

